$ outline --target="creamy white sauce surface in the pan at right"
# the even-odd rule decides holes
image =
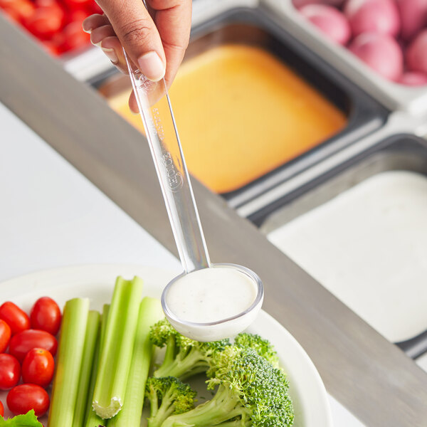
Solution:
[[[270,241],[392,342],[427,329],[427,177],[384,172]]]

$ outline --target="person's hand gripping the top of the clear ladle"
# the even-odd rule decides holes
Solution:
[[[103,15],[88,16],[83,30],[107,58],[124,73],[127,65],[122,46],[139,70],[157,81],[172,83],[189,43],[191,0],[97,0]],[[138,107],[133,94],[132,111]]]

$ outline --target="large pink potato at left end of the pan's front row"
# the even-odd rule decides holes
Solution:
[[[309,4],[302,7],[300,12],[336,43],[346,45],[352,36],[349,21],[344,14],[332,6]]]

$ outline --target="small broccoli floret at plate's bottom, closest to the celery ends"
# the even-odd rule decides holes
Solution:
[[[160,427],[173,413],[184,413],[193,409],[196,391],[174,376],[150,377],[145,386],[145,397],[150,401],[147,427]]]

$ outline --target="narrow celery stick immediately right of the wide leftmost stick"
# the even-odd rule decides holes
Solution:
[[[93,367],[95,344],[100,332],[100,313],[91,310],[88,315],[86,327],[85,348],[83,350],[83,362],[80,369],[78,382],[77,401],[75,402],[73,427],[82,427],[85,420],[85,410],[88,403],[90,374]],[[92,399],[92,396],[90,396]]]

